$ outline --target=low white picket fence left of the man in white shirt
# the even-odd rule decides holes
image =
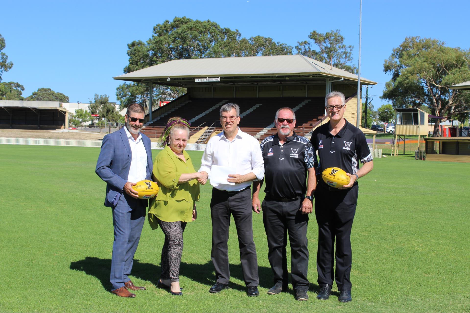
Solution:
[[[0,145],[61,145],[69,147],[100,148],[101,140],[51,139],[51,138],[8,138],[0,137]],[[185,150],[204,151],[206,144],[188,144]],[[161,150],[157,142],[152,142],[152,149]]]

